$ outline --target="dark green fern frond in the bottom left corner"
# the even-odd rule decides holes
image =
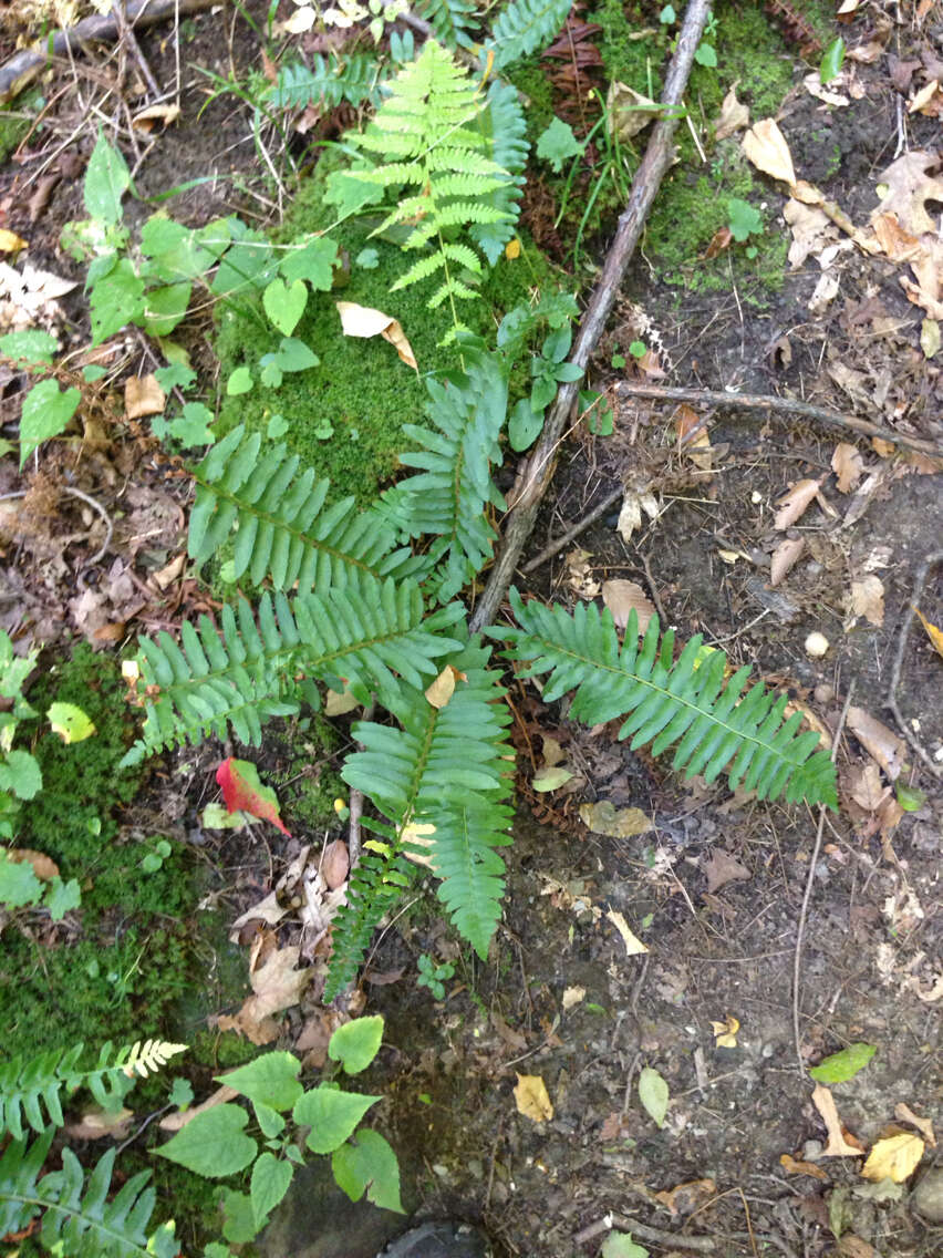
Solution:
[[[55,1128],[29,1145],[11,1140],[0,1159],[0,1235],[23,1232],[41,1213],[39,1242],[68,1258],[174,1258],[179,1245],[174,1225],[162,1224],[150,1237],[155,1190],[150,1171],[141,1171],[108,1200],[117,1150],[99,1159],[85,1181],[70,1149],[62,1151],[62,1170],[40,1177]]]

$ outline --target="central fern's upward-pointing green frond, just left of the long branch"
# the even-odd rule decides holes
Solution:
[[[450,576],[440,591],[446,600],[461,589],[469,570],[480,571],[490,559],[497,535],[485,508],[503,506],[490,468],[500,462],[505,367],[497,355],[470,346],[463,355],[464,374],[427,381],[426,415],[435,426],[402,426],[420,448],[402,454],[401,462],[422,470],[383,494],[385,508],[410,537],[446,538]]]

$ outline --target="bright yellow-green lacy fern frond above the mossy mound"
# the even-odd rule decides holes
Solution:
[[[456,303],[478,296],[470,286],[483,273],[480,258],[454,239],[455,230],[513,221],[507,209],[489,203],[492,194],[507,191],[510,176],[490,159],[488,140],[475,130],[482,108],[468,74],[430,39],[417,60],[392,81],[390,97],[366,131],[348,136],[382,165],[336,172],[329,181],[333,192],[328,195],[348,206],[356,204],[351,189],[357,185],[365,196],[404,185],[416,187],[400,196],[373,235],[407,225],[411,230],[404,249],[434,245],[434,252],[400,276],[392,289],[435,277],[439,283],[427,307],[438,309],[448,301],[453,320],[444,345],[464,330]]]

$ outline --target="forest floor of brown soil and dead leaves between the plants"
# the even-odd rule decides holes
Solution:
[[[128,153],[138,195],[234,172],[170,203],[191,225],[229,213],[273,221],[280,201],[243,103],[221,96],[200,108],[206,91],[194,67],[225,74],[231,64],[236,75],[262,68],[258,35],[224,8],[189,19],[186,43],[172,24],[140,36],[158,83],[171,83],[182,59],[184,91],[180,118],[140,135]],[[880,200],[876,185],[910,155],[891,176],[899,204],[939,233],[939,10],[861,5],[844,34],[860,57],[846,62],[826,99],[803,82],[817,57],[805,62],[792,45],[793,87],[777,120],[796,174],[864,225]],[[59,326],[75,348],[88,342],[82,272],[59,250],[59,233],[83,216],[80,174],[94,143],[89,102],[116,82],[127,96],[137,73],[127,49],[59,64],[41,86],[43,126],[0,167],[0,226],[29,242],[33,265],[79,282],[59,298]],[[925,103],[908,112],[934,79],[935,112]],[[930,160],[914,157],[925,153]],[[669,181],[693,182],[697,174],[676,169]],[[733,264],[727,284],[702,287],[699,257],[668,282],[642,240],[590,371],[611,399],[615,431],[602,438],[580,429],[567,442],[518,585],[567,605],[650,600],[679,637],[700,633],[733,664],[751,664],[788,691],[826,742],[840,732],[841,808],[822,830],[817,811],[683,781],[617,741],[617,722],[586,730],[568,721],[566,706],[544,704],[533,684],[510,679],[518,815],[488,964],[469,959],[434,901],[416,901],[376,940],[361,985],[363,1009],[386,1020],[383,1050],[366,1078],[383,1097],[378,1122],[401,1160],[404,1199],[416,1218],[480,1224],[495,1255],[600,1253],[609,1215],[660,1255],[929,1258],[943,1244],[943,1161],[932,1132],[914,1177],[875,1185],[863,1179],[860,1159],[826,1155],[834,1133],[801,1069],[852,1043],[876,1047],[866,1069],[832,1087],[846,1138],[863,1147],[895,1122],[914,1130],[902,1106],[940,1118],[943,663],[912,623],[910,606],[920,581],[920,611],[943,623],[942,464],[851,429],[738,409],[734,396],[787,395],[940,447],[939,325],[928,304],[908,299],[902,281],[913,289],[915,272],[907,262],[863,253],[827,219],[793,221],[790,233],[782,185],[764,181],[763,196],[766,230],[791,248],[773,288],[734,274]],[[543,231],[552,248],[536,195],[524,225],[537,239]],[[610,231],[604,223],[592,240],[598,259]],[[561,244],[553,260],[566,265],[570,242]],[[715,242],[720,254],[724,248],[729,242]],[[939,286],[943,264],[939,252],[934,257]],[[585,297],[591,277],[583,278]],[[187,343],[211,392],[218,369],[209,322],[195,323]],[[630,351],[639,343],[644,356]],[[124,338],[121,355],[124,374],[156,362],[140,335]],[[731,400],[719,408],[642,399],[620,392],[626,384],[719,390]],[[5,437],[15,435],[21,386],[21,376],[0,367]],[[33,509],[25,531],[24,517],[16,527],[0,517],[0,628],[23,649],[41,644],[52,677],[68,671],[83,639],[117,676],[138,632],[172,629],[214,605],[182,559],[187,483],[156,455],[140,423],[122,423],[111,400],[121,374],[108,387],[98,437],[85,429],[80,458],[74,445],[48,447],[23,476],[15,455],[0,458],[0,496],[25,488]],[[685,440],[702,418],[700,435]],[[816,484],[803,496],[808,482]],[[527,566],[620,483],[641,508],[637,527],[625,526],[625,508],[620,527],[614,499],[575,540]],[[96,562],[96,513],[59,494],[59,484],[94,496],[114,522]],[[656,518],[644,509],[653,498]],[[781,575],[787,554],[793,564]],[[810,652],[813,633],[827,639],[824,654]],[[304,845],[319,850],[345,837],[339,821],[292,824],[294,779],[323,770],[326,781],[336,780],[345,720],[336,750],[319,751],[313,766],[298,767],[303,736],[284,722],[259,760],[268,780],[282,775],[293,839],[273,839],[260,827],[200,828],[216,791],[219,743],[166,757],[133,799],[109,811],[116,843],[167,835],[200,869],[199,896],[171,915],[199,941],[200,961],[174,976],[185,990],[161,1027],[174,1030],[170,1038],[206,1033],[218,1014],[239,1006],[249,950],[228,941],[231,921],[264,898]],[[544,767],[570,776],[541,791],[533,779]],[[925,793],[915,811],[898,806],[896,780]],[[609,820],[600,804],[612,805]],[[133,912],[103,917],[101,928],[117,937]],[[82,930],[80,917],[60,927],[41,915],[8,922],[4,945],[18,933],[29,947],[16,954],[18,972],[9,957],[3,964],[4,1025],[23,1028],[18,1001],[45,981],[47,957],[78,946]],[[298,926],[283,922],[279,931],[283,944],[298,942]],[[454,966],[441,1000],[416,984],[421,955]],[[147,998],[133,982],[128,991],[141,1033],[153,1033]],[[312,996],[284,1015],[278,1047],[314,1062],[331,1018]],[[725,1043],[714,1024],[729,1019],[738,1029]],[[101,1038],[108,1034],[103,1025]],[[20,1035],[18,1050],[24,1043]],[[639,1101],[642,1068],[668,1084],[660,1127]],[[548,1121],[518,1112],[518,1076],[543,1079]],[[272,1258],[372,1258],[402,1227],[387,1211],[346,1203],[312,1169],[260,1244]]]

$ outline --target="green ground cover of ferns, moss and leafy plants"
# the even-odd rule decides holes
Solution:
[[[18,1055],[0,1066],[0,1133],[9,1137],[0,1156],[0,1235],[29,1233],[24,1253],[34,1243],[67,1255],[179,1249],[174,1224],[152,1222],[155,1209],[166,1218],[172,1206],[157,1206],[147,1170],[118,1186],[114,1150],[85,1172],[57,1135],[65,1099],[87,1089],[117,1122],[130,1112],[135,1082],[153,1087],[148,1077],[185,1048],[135,1042],[143,1011],[158,1025],[182,995],[190,962],[179,920],[196,886],[171,838],[118,842],[116,805],[141,790],[150,757],[196,754],[214,738],[264,747],[278,721],[314,738],[331,728],[326,717],[362,710],[350,731],[353,750],[338,752],[339,777],[331,784],[342,781],[368,805],[360,820],[368,837],[326,920],[323,1003],[339,1009],[377,926],[426,876],[456,935],[488,959],[505,889],[502,849],[512,843],[512,665],[519,679],[541,679],[544,703],[566,697],[570,718],[586,726],[619,722],[619,740],[654,756],[670,752],[671,767],[687,777],[709,784],[724,774],[731,789],[759,801],[837,808],[820,731],[803,726],[786,694],[751,683],[749,667],[731,667],[700,635],[676,644],[658,615],[640,630],[632,608],[617,626],[609,606],[578,603],[571,613],[513,589],[512,623],[469,629],[475,585],[494,559],[497,518],[508,507],[499,488],[507,448],[532,448],[558,385],[583,375],[568,361],[578,286],[519,224],[528,160],[546,164],[539,179],[556,196],[553,230],[572,242],[570,260],[578,265],[581,248],[626,200],[640,156],[635,121],[658,113],[660,68],[676,36],[671,6],[642,44],[631,38],[641,15],[636,21],[606,0],[590,16],[602,31],[609,89],[581,94],[566,121],[553,112],[552,93],[542,89],[538,101],[537,91],[527,99],[518,89],[536,83],[536,57],[571,8],[571,0],[510,0],[485,29],[472,6],[425,0],[419,10],[431,29],[420,42],[411,29],[392,28],[401,6],[372,4],[358,15],[368,19],[372,53],[319,53],[311,65],[283,65],[268,86],[238,84],[256,127],[312,102],[365,111],[272,231],[236,215],[192,229],[163,209],[132,228],[132,171],[98,131],[83,182],[88,218],[67,225],[62,248],[87,268],[92,347],[133,325],[165,356],[151,377],[158,404],[142,414],[155,416],[153,437],[192,484],[187,559],[221,598],[214,616],[185,616],[174,633],[141,635],[123,662],[123,684],[113,662],[79,647],[26,697],[38,657],[18,658],[0,634],[5,964],[35,964],[36,936],[18,930],[25,915],[60,922],[80,910],[83,938],[68,955],[53,950],[43,965],[55,986],[68,985],[69,967],[91,984],[85,1009],[72,1004],[40,1029],[39,1006],[24,1000],[13,1027]],[[724,103],[720,63],[741,72],[754,106],[781,94],[781,67],[757,68],[747,58],[761,28],[768,43],[768,25],[753,11],[743,21],[724,10],[709,26],[692,81],[703,117]],[[834,49],[830,57],[840,64]],[[775,60],[772,52],[761,60]],[[683,157],[689,145],[685,138]],[[648,238],[669,283],[723,282],[719,267],[695,265],[708,249],[709,262],[736,257],[744,276],[768,273],[775,287],[786,247],[764,230],[754,179],[733,146],[718,146],[709,175],[681,166]],[[392,294],[395,318],[377,308]],[[176,340],[195,307],[215,320],[215,409]],[[362,352],[352,355],[338,336],[338,312],[346,336],[367,337]],[[9,332],[0,352],[33,381],[15,450],[23,470],[69,431],[104,370],[87,364],[77,371],[45,331]],[[646,346],[635,341],[630,353],[641,359]],[[399,420],[391,389],[406,399],[402,409],[422,409],[422,423]],[[581,394],[581,410],[597,401]],[[612,430],[611,413],[585,423],[595,435]],[[50,731],[30,733],[28,722],[40,715]],[[226,813],[241,810],[287,833],[277,796],[251,762],[230,755],[216,780]],[[323,816],[331,794],[321,788],[314,815]],[[119,912],[133,913],[133,925],[106,944],[108,920]],[[175,981],[151,977],[141,966],[146,950],[165,959]],[[441,1000],[454,967],[425,955],[420,962],[417,981]],[[98,1039],[102,1003],[114,1010],[109,1040],[127,1047],[96,1044],[88,1068],[83,1044]],[[382,1029],[378,1016],[343,1021],[327,1044],[337,1072],[365,1071]],[[25,1050],[30,1040],[39,1055]],[[864,1058],[852,1073],[870,1052]],[[215,1198],[223,1240],[204,1237],[205,1258],[249,1244],[311,1152],[331,1155],[352,1200],[402,1209],[394,1149],[358,1126],[380,1098],[342,1091],[331,1077],[306,1089],[301,1072],[292,1053],[253,1054],[216,1076],[234,1098],[200,1108],[153,1149],[189,1172],[238,1185]],[[639,1092],[661,1126],[668,1089],[658,1072],[642,1071]],[[194,1101],[182,1076],[161,1094],[184,1113]],[[50,1170],[54,1141],[60,1169]],[[644,1253],[627,1235],[621,1250],[610,1244],[607,1252]]]

